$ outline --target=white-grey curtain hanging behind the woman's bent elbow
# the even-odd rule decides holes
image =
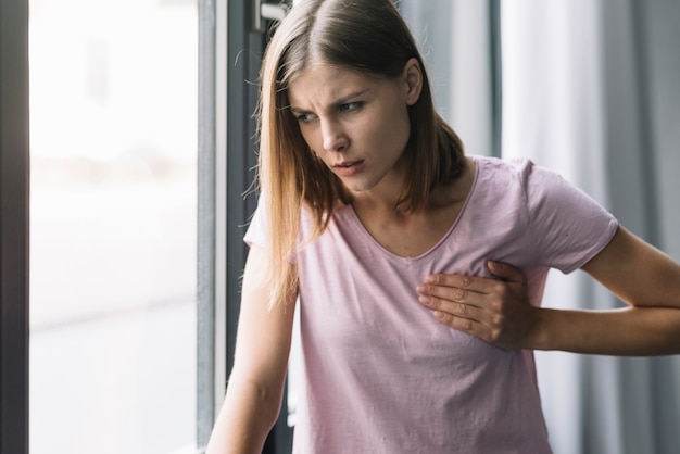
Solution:
[[[553,168],[679,258],[680,2],[501,2],[504,156]],[[675,17],[671,20],[670,17]],[[673,126],[675,125],[675,126]],[[620,305],[551,274],[547,306]],[[606,329],[606,327],[603,327]],[[677,453],[678,357],[538,353],[555,454]]]

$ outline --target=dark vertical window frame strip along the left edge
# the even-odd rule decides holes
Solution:
[[[0,452],[28,453],[28,1],[0,2]]]

